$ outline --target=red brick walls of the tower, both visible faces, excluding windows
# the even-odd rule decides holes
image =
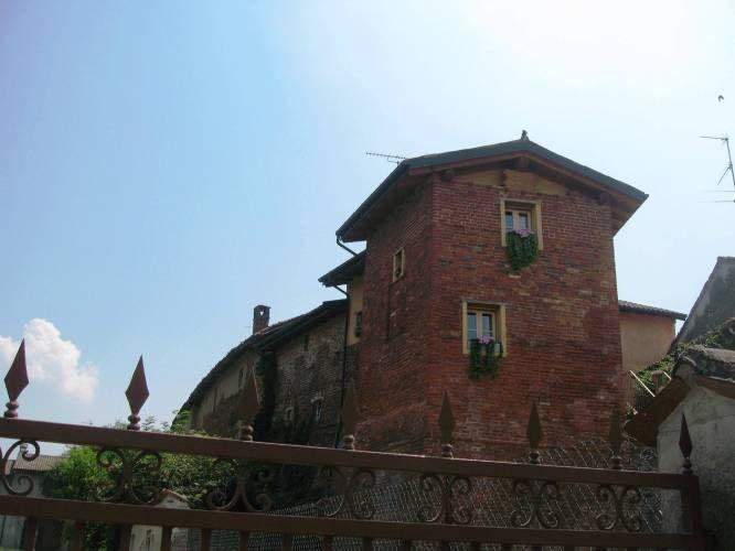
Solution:
[[[445,389],[458,456],[516,456],[532,401],[546,445],[607,434],[621,361],[609,206],[580,191],[520,191],[534,187],[514,186],[516,176],[535,176],[505,175],[501,185],[471,175],[427,182],[369,237],[360,377],[368,446],[438,453]],[[501,194],[542,202],[544,250],[518,274],[501,247]],[[406,274],[391,283],[401,246]],[[505,304],[508,357],[493,380],[467,377],[468,299]],[[403,318],[388,338],[390,310]]]

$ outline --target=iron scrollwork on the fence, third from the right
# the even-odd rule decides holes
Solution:
[[[425,497],[418,508],[418,518],[422,522],[468,525],[472,520],[469,508],[461,505],[461,498],[472,491],[472,483],[468,477],[427,473],[420,476],[418,486]]]

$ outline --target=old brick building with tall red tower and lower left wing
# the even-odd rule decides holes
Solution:
[[[264,408],[285,425],[308,419],[311,443],[339,436],[348,385],[363,449],[435,453],[445,390],[465,456],[514,456],[533,402],[546,444],[605,434],[624,372],[612,238],[646,197],[525,134],[405,160],[337,230],[365,244],[320,278],[348,299],[273,325],[258,306],[254,334],[184,408],[232,434],[244,374],[260,365]],[[660,334],[668,315],[673,337],[664,312],[636,334]]]

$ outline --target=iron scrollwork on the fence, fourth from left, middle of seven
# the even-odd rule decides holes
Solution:
[[[375,473],[368,468],[356,468],[352,472],[333,466],[322,466],[317,474],[318,478],[332,479],[338,488],[337,503],[330,507],[330,498],[317,501],[319,510],[324,517],[337,517],[347,511],[352,518],[370,520],[375,515],[375,503],[370,488],[375,486]]]

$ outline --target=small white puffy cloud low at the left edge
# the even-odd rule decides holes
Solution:
[[[61,389],[83,402],[90,402],[97,388],[97,368],[81,365],[82,350],[64,341],[53,323],[34,317],[23,327],[25,359],[31,382]],[[10,366],[20,342],[0,335],[0,364]]]

